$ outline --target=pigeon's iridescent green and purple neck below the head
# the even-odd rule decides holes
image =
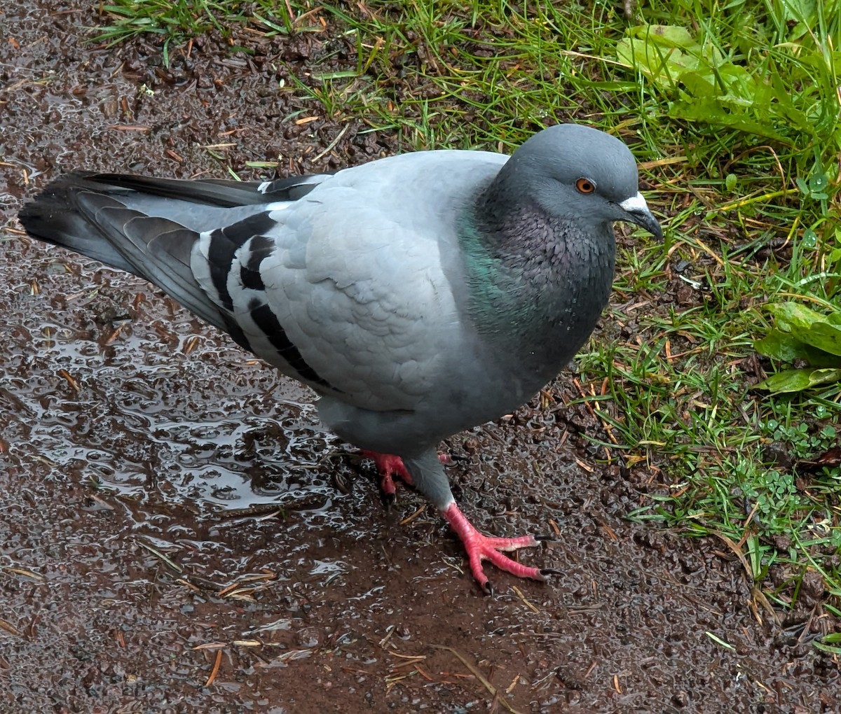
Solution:
[[[606,306],[613,231],[606,224],[588,232],[535,202],[491,203],[492,196],[491,190],[463,214],[468,313],[509,359],[550,379],[584,344]]]

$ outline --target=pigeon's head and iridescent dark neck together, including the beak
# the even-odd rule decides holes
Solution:
[[[614,221],[663,231],[619,139],[577,124],[534,134],[463,220],[469,312],[541,378],[569,361],[610,296]]]

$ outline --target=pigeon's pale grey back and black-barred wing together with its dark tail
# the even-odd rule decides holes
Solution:
[[[423,152],[246,186],[77,176],[21,220],[156,283],[320,393],[412,410],[440,379],[442,354],[458,349],[442,249],[506,158]]]

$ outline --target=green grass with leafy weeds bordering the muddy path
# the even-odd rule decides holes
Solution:
[[[505,150],[569,118],[620,135],[667,242],[621,241],[612,334],[578,362],[593,438],[649,481],[629,517],[721,539],[777,606],[816,570],[839,615],[841,468],[813,462],[838,445],[841,386],[751,384],[780,366],[756,357],[764,306],[838,305],[841,0],[652,0],[630,23],[615,4],[114,0],[98,41],[329,24],[323,71],[283,91],[406,149]]]

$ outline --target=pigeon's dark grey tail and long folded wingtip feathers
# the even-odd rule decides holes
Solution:
[[[154,283],[251,349],[231,312],[236,251],[272,228],[267,208],[296,201],[327,178],[185,181],[79,171],[50,183],[19,219],[34,238]]]

